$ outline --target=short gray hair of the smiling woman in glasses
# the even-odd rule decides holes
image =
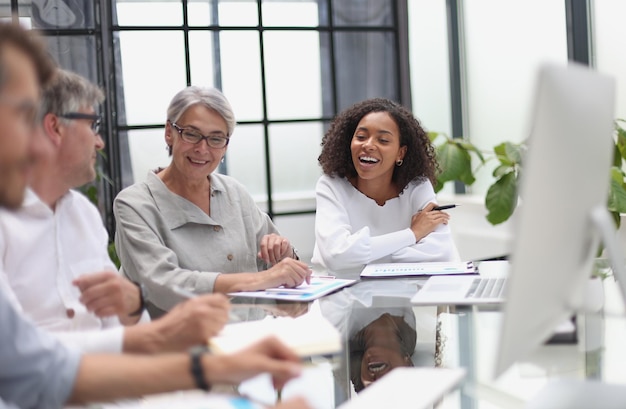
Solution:
[[[193,105],[203,105],[217,112],[226,122],[228,136],[235,130],[235,114],[230,102],[218,89],[211,87],[190,86],[179,91],[167,108],[167,119],[176,122]]]

